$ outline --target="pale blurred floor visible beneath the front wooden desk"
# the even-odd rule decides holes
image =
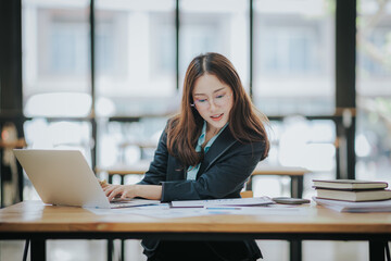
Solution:
[[[119,241],[117,243],[119,244]],[[265,261],[288,261],[288,243],[257,240]],[[368,244],[364,241],[304,241],[303,261],[365,261],[368,260]],[[23,260],[24,241],[0,241],[1,261]],[[113,260],[119,260],[118,252]],[[29,260],[29,258],[27,259]],[[105,240],[49,240],[48,261],[105,261]],[[126,261],[144,261],[139,240],[126,240]]]

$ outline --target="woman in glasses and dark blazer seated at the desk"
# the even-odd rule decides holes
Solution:
[[[266,117],[263,117],[266,121]],[[232,64],[218,53],[195,57],[185,76],[180,113],[165,127],[144,178],[104,187],[114,197],[173,200],[239,198],[269,142]],[[142,241],[148,260],[256,260],[245,241]]]

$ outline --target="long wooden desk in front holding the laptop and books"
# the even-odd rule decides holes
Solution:
[[[384,260],[384,244],[391,239],[391,213],[338,213],[321,207],[304,208],[308,208],[305,215],[155,219],[134,214],[94,215],[81,208],[25,201],[0,210],[0,239],[30,239],[33,261],[46,260],[47,239],[153,237],[176,240],[368,240],[370,260]]]

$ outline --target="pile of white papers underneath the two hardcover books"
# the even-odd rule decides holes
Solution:
[[[313,200],[338,212],[391,212],[391,200],[366,202],[349,202],[320,198],[313,198]]]

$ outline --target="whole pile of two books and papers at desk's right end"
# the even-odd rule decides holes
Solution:
[[[339,212],[390,212],[391,190],[386,182],[313,179],[316,203]]]

